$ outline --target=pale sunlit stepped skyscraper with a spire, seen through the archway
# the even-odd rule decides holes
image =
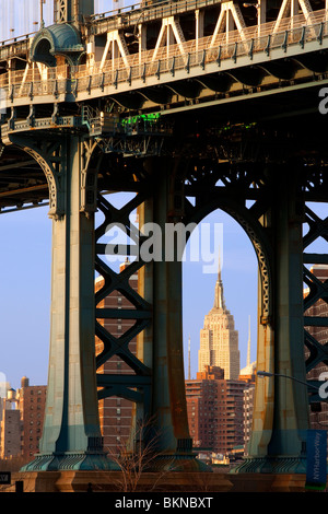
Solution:
[[[239,376],[239,361],[238,331],[235,330],[233,315],[225,306],[219,266],[214,305],[206,315],[200,330],[198,371],[204,371],[207,365],[220,366],[224,370],[225,379],[236,381]]]

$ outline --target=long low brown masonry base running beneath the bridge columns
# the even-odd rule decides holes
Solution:
[[[301,474],[143,472],[133,479],[121,471],[27,471],[12,474],[14,492],[24,482],[24,492],[305,492]]]

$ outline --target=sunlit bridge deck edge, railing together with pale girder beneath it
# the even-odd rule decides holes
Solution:
[[[57,67],[49,69],[44,79],[35,70],[13,71],[10,77],[5,73],[0,77],[5,97],[2,106],[87,102],[104,96],[117,97],[119,103],[119,93],[139,92],[148,98],[148,89],[157,85],[166,85],[173,94],[179,94],[179,84],[190,80],[200,85],[197,96],[198,102],[202,102],[209,91],[212,95],[235,95],[244,94],[245,86],[265,90],[281,86],[281,80],[289,74],[293,84],[297,80],[313,81],[315,72],[321,73],[321,80],[326,79],[325,66],[316,68],[317,59],[309,57],[314,52],[323,55],[327,49],[326,11],[314,12],[311,24],[305,23],[303,15],[293,19],[293,26],[291,23],[291,19],[285,19],[279,32],[273,31],[273,22],[261,25],[260,31],[257,26],[245,28],[243,34],[234,31],[227,42],[226,34],[203,37],[197,44],[188,40],[183,48],[172,45],[169,52],[163,47],[155,56],[154,50],[147,50],[108,60],[103,68],[99,62],[74,69]],[[288,72],[286,60],[293,61],[292,66],[296,63],[294,75]],[[222,73],[230,78],[229,86]],[[188,93],[183,92],[181,96],[188,98]],[[149,108],[150,104],[145,106]]]

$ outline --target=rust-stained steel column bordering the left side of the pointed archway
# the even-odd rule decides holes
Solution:
[[[144,290],[152,296],[152,349],[144,347],[145,363],[152,366],[152,398],[149,437],[155,448],[152,467],[176,471],[204,470],[192,454],[185,395],[181,315],[181,261],[165,258],[166,224],[169,217],[169,175],[173,161],[165,159],[148,163],[154,180],[151,205],[147,206],[148,221],[160,229],[162,259],[145,265]],[[171,225],[173,227],[173,224]],[[142,231],[142,227],[141,227]],[[156,243],[159,243],[156,238]],[[167,242],[167,241],[166,241]],[[172,248],[171,248],[172,249]],[[152,272],[149,273],[148,269]],[[149,336],[148,336],[149,338]],[[150,358],[150,353],[152,354]],[[152,362],[150,362],[152,361]]]

